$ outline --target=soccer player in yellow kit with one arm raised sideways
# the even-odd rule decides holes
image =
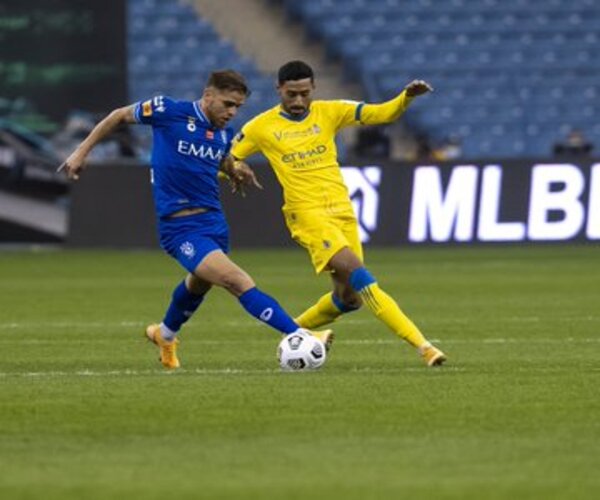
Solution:
[[[296,321],[303,328],[314,329],[365,304],[416,347],[428,366],[441,365],[446,361],[444,353],[423,336],[365,267],[358,222],[334,142],[343,127],[397,120],[416,96],[433,89],[415,80],[381,104],[313,101],[314,74],[302,61],[291,61],[279,69],[277,89],[280,104],[244,125],[231,154],[238,161],[259,151],[267,157],[283,188],[283,214],[292,238],[308,250],[317,273],[331,274],[333,291]]]

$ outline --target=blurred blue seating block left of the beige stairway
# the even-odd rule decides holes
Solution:
[[[232,68],[244,74],[252,90],[232,126],[239,127],[274,103],[272,77],[262,75],[221,39],[191,4],[130,0],[127,5],[131,102],[157,94],[197,99],[211,71]]]

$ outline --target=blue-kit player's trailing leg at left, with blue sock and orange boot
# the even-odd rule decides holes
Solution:
[[[160,348],[160,361],[166,368],[179,368],[177,335],[183,324],[200,307],[211,286],[197,276],[188,274],[173,291],[162,323],[146,328],[146,337]]]

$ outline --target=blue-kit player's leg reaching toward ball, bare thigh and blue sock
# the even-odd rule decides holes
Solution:
[[[248,273],[222,251],[215,250],[208,254],[194,274],[213,285],[225,288],[238,298],[248,314],[279,332],[290,334],[300,328],[273,297],[259,290]],[[324,340],[327,343],[328,338]]]

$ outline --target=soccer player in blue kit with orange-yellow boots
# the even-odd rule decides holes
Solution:
[[[249,314],[283,334],[312,334],[325,345],[332,340],[331,330],[301,329],[227,256],[229,228],[219,198],[218,174],[226,174],[238,189],[252,184],[260,187],[252,171],[229,156],[234,134],[226,125],[248,95],[244,78],[224,70],[211,73],[198,101],[157,96],[115,109],[59,167],[77,180],[89,152],[117,127],[152,126],[151,172],[160,245],[188,271],[173,291],[163,321],[149,325],[145,332],[159,347],[161,363],[169,369],[180,366],[177,334],[181,326],[213,285],[225,288]]]

